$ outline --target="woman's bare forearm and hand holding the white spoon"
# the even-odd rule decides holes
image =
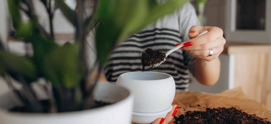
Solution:
[[[195,38],[199,33],[206,30],[208,33]],[[218,81],[220,74],[218,55],[221,54],[226,43],[226,40],[223,38],[223,31],[218,27],[195,25],[191,27],[189,32],[188,35],[191,39],[184,44],[186,47],[182,49],[187,50],[190,55],[196,57],[194,76],[203,85],[214,85]],[[213,50],[212,56],[208,56],[210,49]]]

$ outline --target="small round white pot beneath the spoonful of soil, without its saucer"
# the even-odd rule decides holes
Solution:
[[[128,72],[121,74],[116,85],[124,86],[134,94],[133,112],[157,113],[168,109],[175,95],[171,75],[159,72]]]

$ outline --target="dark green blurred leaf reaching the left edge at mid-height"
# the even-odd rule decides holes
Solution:
[[[28,58],[0,50],[0,71],[21,74],[28,79],[36,78],[35,64]]]

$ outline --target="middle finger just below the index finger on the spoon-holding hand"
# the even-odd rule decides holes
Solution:
[[[226,40],[224,38],[217,38],[212,42],[194,46],[194,47],[184,47],[183,50],[208,50],[211,48],[223,46],[226,43]]]

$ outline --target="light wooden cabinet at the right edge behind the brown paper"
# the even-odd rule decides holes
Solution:
[[[230,56],[229,89],[241,86],[271,109],[271,45],[227,43],[223,54]]]

